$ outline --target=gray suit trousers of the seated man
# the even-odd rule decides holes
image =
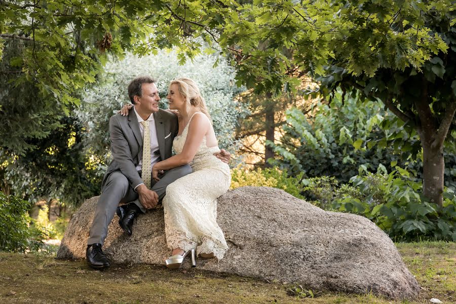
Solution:
[[[166,187],[176,179],[192,173],[192,168],[188,165],[180,166],[166,171],[160,176],[151,190],[159,196],[159,201],[165,197]],[[153,180],[154,182],[154,180]],[[111,222],[119,203],[134,202],[145,213],[144,207],[138,199],[138,194],[130,187],[127,177],[121,171],[112,172],[107,178],[89,232],[87,244],[103,244],[107,236],[108,225]]]

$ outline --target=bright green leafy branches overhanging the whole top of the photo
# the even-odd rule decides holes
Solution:
[[[177,46],[184,62],[202,52],[200,37],[231,56],[238,84],[274,94],[295,92],[307,72],[323,75],[331,58],[353,75],[373,77],[381,68],[421,73],[426,62],[448,50],[422,16],[452,11],[450,0],[8,1],[0,9],[0,36],[32,42],[15,59],[21,66],[16,83],[33,80],[54,103],[77,102],[72,92],[94,81],[106,50],[147,54]]]

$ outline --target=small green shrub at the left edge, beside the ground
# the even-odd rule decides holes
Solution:
[[[29,226],[29,208],[27,201],[0,192],[0,250],[24,252],[43,246],[43,232]]]

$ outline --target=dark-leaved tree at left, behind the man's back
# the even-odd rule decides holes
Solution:
[[[59,123],[61,127],[45,138],[29,140],[35,148],[6,166],[5,178],[16,197],[30,202],[45,200],[48,205],[57,199],[64,206],[75,207],[99,194],[101,176],[89,165],[81,123],[69,117]]]

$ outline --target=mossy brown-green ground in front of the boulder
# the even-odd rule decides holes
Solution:
[[[396,246],[423,288],[414,301],[324,290],[313,290],[315,297],[309,298],[283,282],[198,269],[119,265],[94,271],[85,260],[0,252],[0,303],[429,303],[431,297],[456,302],[456,243]]]

